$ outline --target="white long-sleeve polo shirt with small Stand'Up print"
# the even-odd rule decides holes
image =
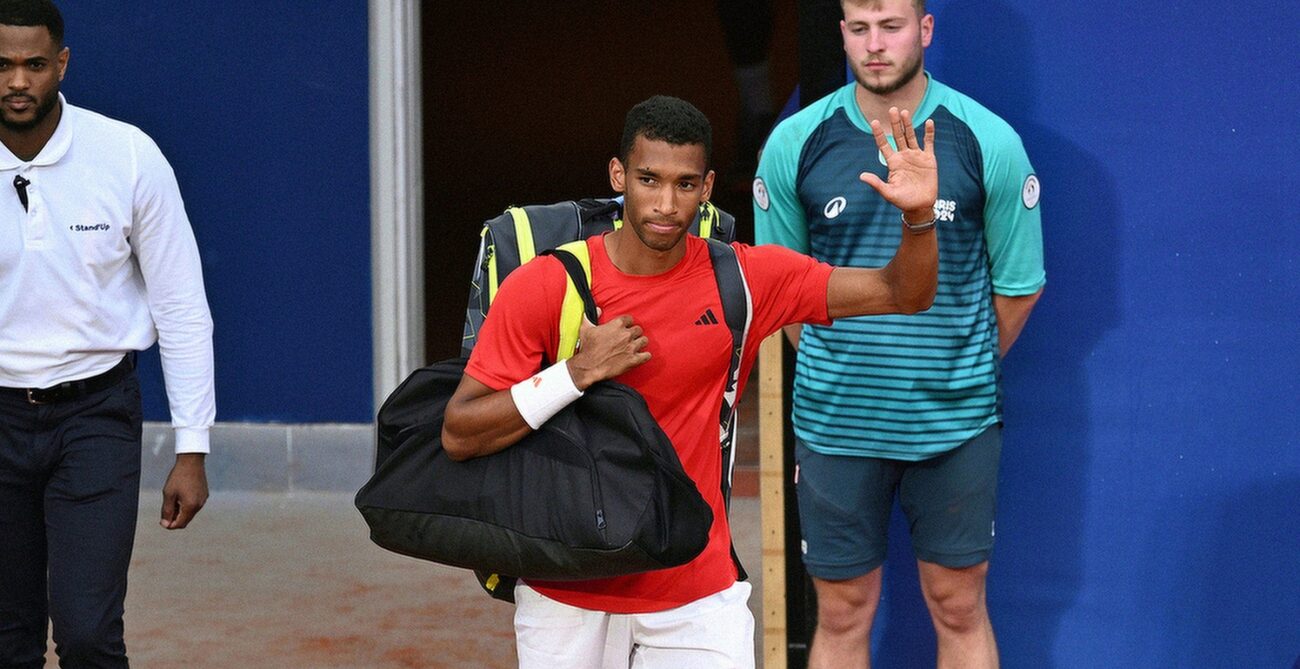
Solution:
[[[135,126],[58,103],[36,157],[0,144],[0,386],[94,377],[159,342],[176,451],[205,453],[212,314],[176,174]]]

